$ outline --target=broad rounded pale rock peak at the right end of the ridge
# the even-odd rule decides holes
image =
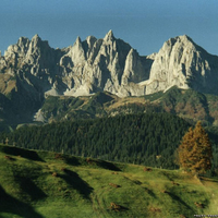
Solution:
[[[155,57],[146,94],[172,86],[218,94],[218,57],[207,53],[187,36],[166,41]]]

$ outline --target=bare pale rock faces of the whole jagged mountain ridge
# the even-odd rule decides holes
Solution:
[[[21,68],[21,73],[31,72],[36,80],[27,77],[27,83],[33,82],[41,92],[52,89],[58,75],[59,93],[68,89],[68,95],[74,96],[97,90],[134,96],[173,85],[218,93],[218,57],[206,53],[186,35],[169,39],[149,57],[141,57],[112,31],[101,39],[90,36],[82,41],[77,37],[74,46],[61,50],[50,48],[48,41],[35,35],[29,43],[21,38],[20,45],[11,46],[0,60],[1,69],[7,71],[13,64],[14,69]],[[37,80],[43,81],[41,85]]]

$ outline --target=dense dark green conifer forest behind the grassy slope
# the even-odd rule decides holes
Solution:
[[[10,144],[75,156],[174,169],[174,152],[190,124],[170,113],[53,122],[1,133]]]

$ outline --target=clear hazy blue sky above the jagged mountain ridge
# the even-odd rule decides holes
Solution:
[[[2,53],[21,36],[63,48],[110,29],[142,56],[184,34],[218,55],[218,0],[0,0]]]

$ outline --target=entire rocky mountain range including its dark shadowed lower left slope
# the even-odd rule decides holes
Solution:
[[[150,56],[140,56],[114,37],[76,38],[73,46],[53,49],[35,35],[21,37],[0,57],[0,119],[31,122],[40,117],[49,96],[78,97],[108,92],[119,98],[145,96],[177,86],[218,95],[218,57],[189,36],[166,41]],[[39,119],[40,120],[40,119]]]

